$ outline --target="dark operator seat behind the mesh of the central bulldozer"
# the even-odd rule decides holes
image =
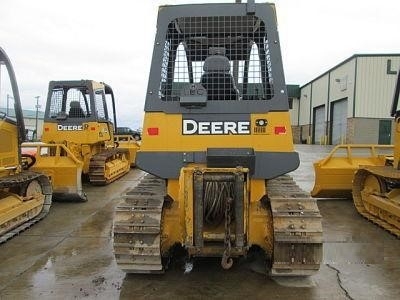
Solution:
[[[230,73],[229,59],[224,55],[208,56],[200,83],[207,90],[207,100],[238,100],[239,90]]]

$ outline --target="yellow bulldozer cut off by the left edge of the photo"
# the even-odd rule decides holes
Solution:
[[[0,243],[44,218],[52,199],[49,178],[28,170],[34,157],[25,160],[21,155],[26,133],[21,100],[10,59],[0,48],[0,75],[5,75],[1,74],[3,66],[12,96],[7,95],[7,107],[0,111]],[[13,108],[8,107],[10,99]]]

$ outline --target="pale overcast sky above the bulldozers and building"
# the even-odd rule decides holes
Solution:
[[[141,127],[157,7],[204,2],[234,0],[1,0],[0,47],[23,108],[34,109],[35,96],[44,107],[50,80],[93,79],[113,87],[119,126]],[[400,53],[399,0],[272,2],[287,83],[305,84],[353,54]]]

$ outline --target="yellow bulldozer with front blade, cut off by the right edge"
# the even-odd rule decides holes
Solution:
[[[393,145],[339,145],[314,163],[313,197],[353,198],[357,211],[400,237],[400,71],[390,115]]]

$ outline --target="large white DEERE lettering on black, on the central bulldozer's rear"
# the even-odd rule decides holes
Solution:
[[[186,119],[182,123],[182,134],[250,134],[250,121],[195,121]]]

